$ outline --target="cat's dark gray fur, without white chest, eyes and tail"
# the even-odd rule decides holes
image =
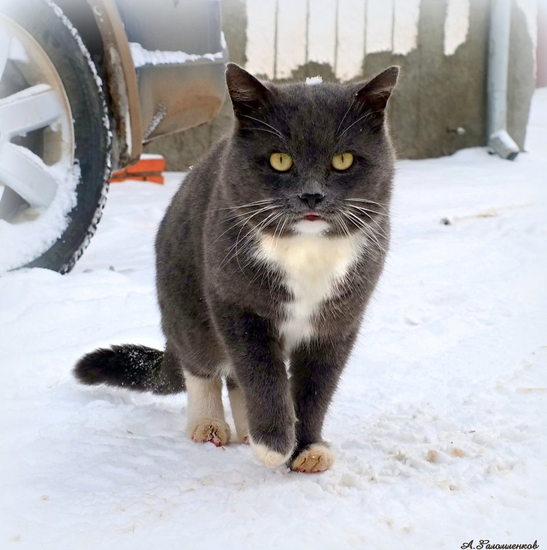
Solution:
[[[251,439],[283,455],[321,442],[327,408],[382,271],[394,163],[384,108],[397,73],[391,67],[366,84],[275,85],[230,64],[233,132],[189,173],[157,234],[168,377],[174,363],[206,378],[225,376],[229,365],[229,385],[244,393]],[[270,167],[277,151],[294,159],[288,172]],[[332,157],[347,151],[353,166],[336,172]],[[323,238],[365,231],[369,246],[336,295],[321,303],[312,339],[287,350],[279,327],[293,296],[283,273],[255,252],[260,232],[292,234],[294,222],[310,211],[302,194],[324,195],[314,207],[331,220]],[[263,200],[275,202],[242,206]]]

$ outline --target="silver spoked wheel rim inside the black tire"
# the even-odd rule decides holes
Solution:
[[[10,187],[39,216],[63,184],[54,167],[73,163],[71,109],[45,51],[1,15],[0,90],[0,195]]]

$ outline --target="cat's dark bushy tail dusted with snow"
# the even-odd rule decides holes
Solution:
[[[143,345],[113,345],[84,355],[74,375],[88,386],[106,384],[135,391],[185,391],[183,371],[169,352]]]

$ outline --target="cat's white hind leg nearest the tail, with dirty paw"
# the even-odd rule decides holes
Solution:
[[[188,433],[196,443],[220,447],[230,442],[230,426],[224,418],[222,380],[194,376],[185,370],[188,392]]]

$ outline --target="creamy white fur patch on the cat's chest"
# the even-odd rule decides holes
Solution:
[[[260,237],[260,259],[283,273],[293,295],[286,303],[286,320],[280,327],[288,349],[313,336],[313,319],[321,314],[321,303],[336,295],[363,247],[360,236],[329,238],[296,233],[279,239]]]

